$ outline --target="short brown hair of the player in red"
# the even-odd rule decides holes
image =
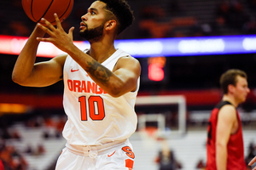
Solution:
[[[230,69],[225,71],[220,77],[220,86],[224,94],[228,94],[228,86],[232,84],[236,87],[237,77],[244,77],[247,79],[247,73],[238,69]]]

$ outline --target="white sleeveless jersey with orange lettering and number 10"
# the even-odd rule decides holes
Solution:
[[[86,52],[87,50],[84,51]],[[102,65],[113,71],[117,60],[127,55],[129,54],[118,49]],[[68,144],[106,144],[127,139],[135,132],[137,115],[134,106],[139,80],[135,92],[113,98],[76,61],[67,56],[63,81],[63,106],[67,122],[62,133]]]

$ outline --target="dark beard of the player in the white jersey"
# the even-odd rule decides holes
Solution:
[[[86,28],[86,30],[79,32],[80,37],[84,37],[88,42],[96,42],[102,38],[104,24],[91,29],[88,29],[86,25]]]

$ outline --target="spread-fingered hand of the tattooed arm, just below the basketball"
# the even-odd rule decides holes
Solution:
[[[38,23],[38,27],[41,28],[45,33],[49,34],[49,37],[37,37],[40,42],[51,42],[57,48],[64,52],[67,52],[71,45],[73,45],[73,30],[71,27],[67,32],[65,32],[61,26],[61,21],[57,14],[55,15],[56,27],[49,23],[48,20],[42,19],[43,25]]]

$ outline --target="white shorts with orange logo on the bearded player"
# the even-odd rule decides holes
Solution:
[[[100,147],[66,144],[55,170],[132,170],[134,158],[128,139]]]

